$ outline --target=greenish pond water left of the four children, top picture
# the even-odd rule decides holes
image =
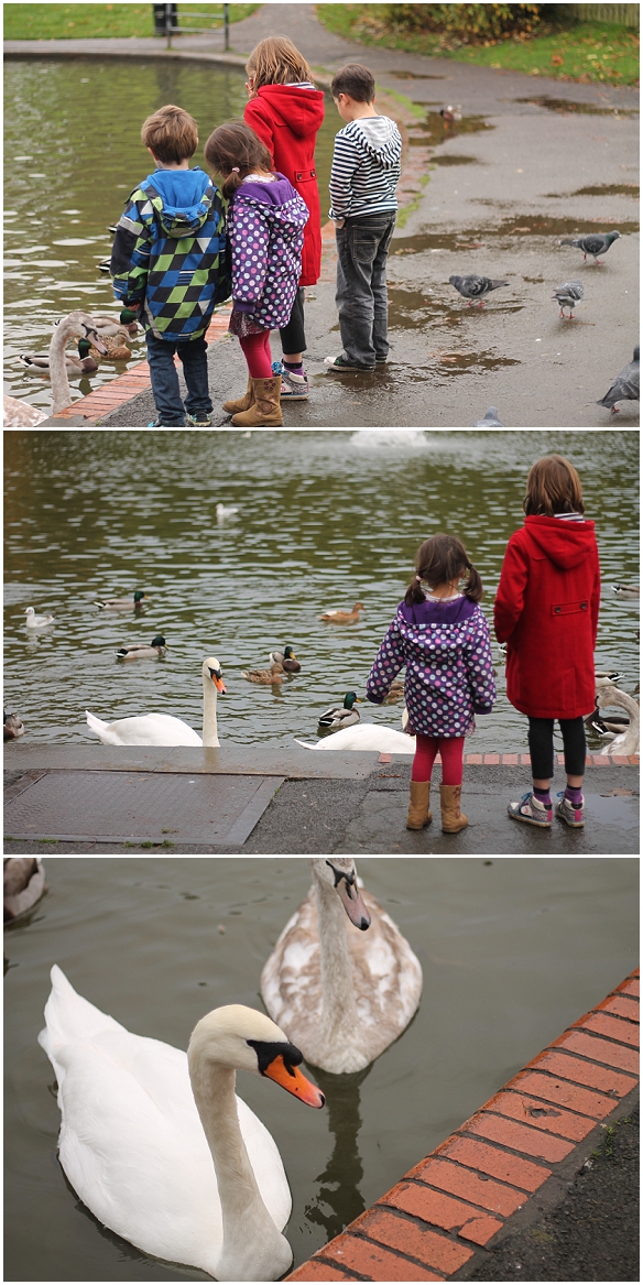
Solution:
[[[203,162],[206,139],[224,121],[243,116],[246,73],[198,62],[95,58],[8,59],[5,63],[5,391],[48,410],[49,377],[24,369],[21,352],[46,352],[54,323],[75,308],[113,312],[111,279],[99,271],[109,257],[111,224],[131,189],[153,164],[140,141],[147,116],[177,103],[194,116]],[[318,135],[322,217],[328,211],[333,140],[341,127],[327,95]],[[140,333],[132,347],[143,360]],[[121,373],[103,362],[89,379],[71,379],[72,398]]]

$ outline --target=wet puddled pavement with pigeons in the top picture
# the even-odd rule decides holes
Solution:
[[[381,90],[404,94],[410,161],[418,154],[388,267],[390,362],[367,374],[324,371],[324,357],[341,350],[329,242],[306,302],[311,396],[284,407],[285,427],[466,428],[489,405],[508,428],[637,425],[638,402],[621,403],[619,420],[595,405],[638,342],[637,90],[367,49],[327,32],[311,5],[262,6],[234,24],[230,59],[279,23],[320,73],[360,60]],[[109,42],[84,44],[104,51]],[[127,42],[130,55],[135,44]],[[138,44],[162,55],[159,42]],[[171,57],[212,55],[212,48],[181,37]],[[462,122],[445,125],[439,109],[446,103],[462,104]],[[611,229],[621,239],[602,267],[558,244]],[[449,285],[451,274],[467,272],[509,285],[484,308],[467,307]],[[565,321],[553,290],[576,279],[585,298],[576,320]],[[216,406],[243,391],[235,341],[216,343],[208,365]],[[144,427],[153,418],[145,392],[100,423]],[[217,410],[212,424],[229,419]]]

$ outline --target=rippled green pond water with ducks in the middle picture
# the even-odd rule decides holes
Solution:
[[[638,681],[638,601],[612,583],[638,580],[638,433],[363,430],[15,430],[5,434],[5,690],[27,740],[94,740],[100,718],[158,711],[201,731],[201,664],[216,655],[228,694],[221,743],[316,735],[319,713],[364,684],[413,573],[419,544],[463,538],[491,617],[502,559],[522,524],[525,479],[557,450],[577,466],[597,522],[603,596],[599,668]],[[238,513],[222,524],[216,504]],[[96,599],[149,595],[145,612]],[[331,626],[328,608],[365,604]],[[55,623],[27,630],[24,609]],[[162,634],[163,660],[123,664],[114,649]],[[242,677],[292,644],[301,673],[282,687]],[[526,720],[504,693],[467,748],[526,748]],[[361,709],[400,726],[401,705]],[[27,741],[24,741],[26,744]],[[599,744],[598,741],[595,743]]]

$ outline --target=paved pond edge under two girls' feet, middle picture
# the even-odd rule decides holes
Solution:
[[[269,745],[118,749],[13,745],[5,756],[5,853],[351,853],[415,856],[586,856],[639,852],[638,772],[589,766],[586,824],[552,830],[512,821],[507,804],[529,789],[529,768],[466,766],[469,826],[405,829],[410,761],[374,753],[315,754]],[[563,789],[558,768],[552,786]],[[212,838],[207,840],[207,835]]]

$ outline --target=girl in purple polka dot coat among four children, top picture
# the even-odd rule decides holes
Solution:
[[[206,161],[224,179],[230,200],[228,235],[233,261],[230,326],[248,364],[243,397],[224,402],[233,424],[279,428],[282,368],[273,374],[270,330],[285,326],[301,276],[307,206],[283,173],[275,173],[267,148],[243,121],[220,125],[204,148]]]

